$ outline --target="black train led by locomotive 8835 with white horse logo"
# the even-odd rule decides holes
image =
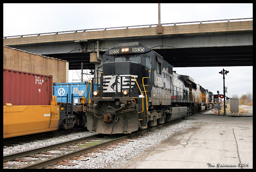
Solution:
[[[120,43],[103,55],[103,73],[86,107],[94,133],[132,133],[212,108],[212,93],[178,75],[162,56],[139,42]]]

